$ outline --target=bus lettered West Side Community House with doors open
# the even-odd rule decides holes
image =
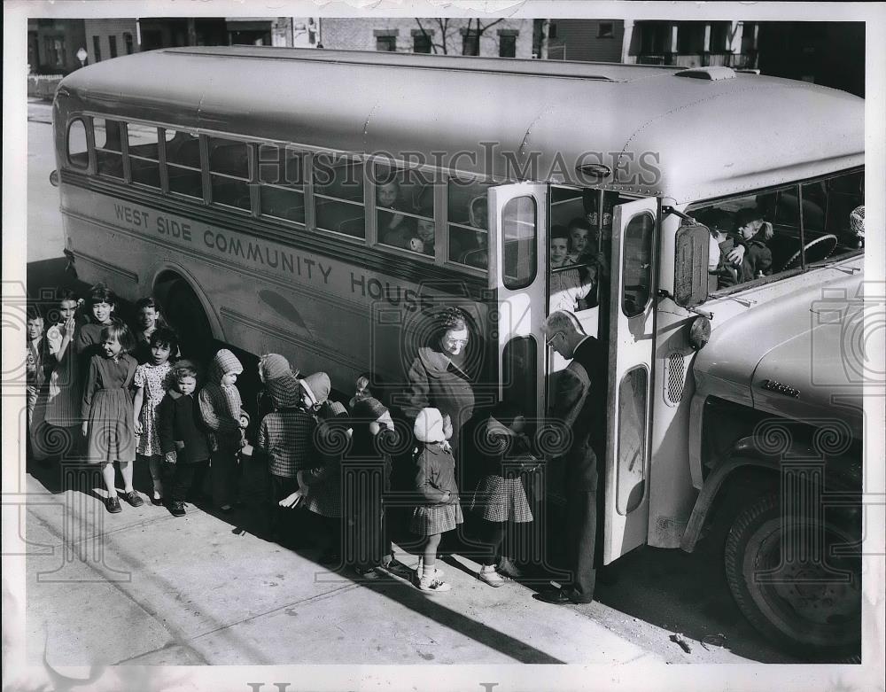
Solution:
[[[348,391],[459,305],[478,401],[543,419],[570,307],[608,354],[604,562],[726,522],[742,611],[826,658],[860,641],[863,113],[727,67],[253,47],[89,66],[53,110],[74,268],[186,347]]]

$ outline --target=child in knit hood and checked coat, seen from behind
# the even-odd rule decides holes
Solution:
[[[279,503],[299,491],[298,473],[310,468],[314,456],[317,424],[314,416],[304,408],[315,402],[314,390],[307,385],[307,391],[311,393],[308,397],[301,384],[305,380],[297,380],[289,363],[279,354],[268,354],[261,359],[259,377],[274,410],[261,419],[256,450],[268,462],[271,533],[275,540],[279,540],[283,520]],[[319,385],[313,375],[306,380]],[[329,377],[326,380],[329,381]]]

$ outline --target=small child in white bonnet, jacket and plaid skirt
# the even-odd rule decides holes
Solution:
[[[424,503],[416,507],[409,525],[412,533],[424,536],[423,564],[416,574],[418,587],[429,594],[452,587],[440,578],[437,548],[443,533],[464,520],[455,485],[455,459],[447,445],[452,424],[446,425],[437,408],[423,408],[416,416],[416,493]]]

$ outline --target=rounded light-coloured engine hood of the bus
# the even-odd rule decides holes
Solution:
[[[751,307],[711,330],[696,355],[699,394],[799,421],[838,420],[862,434],[865,363],[861,276],[816,284]]]

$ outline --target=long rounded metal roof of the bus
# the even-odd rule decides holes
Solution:
[[[57,107],[677,202],[861,165],[864,99],[726,67],[260,47],[77,70]],[[587,170],[587,169],[586,169]]]

